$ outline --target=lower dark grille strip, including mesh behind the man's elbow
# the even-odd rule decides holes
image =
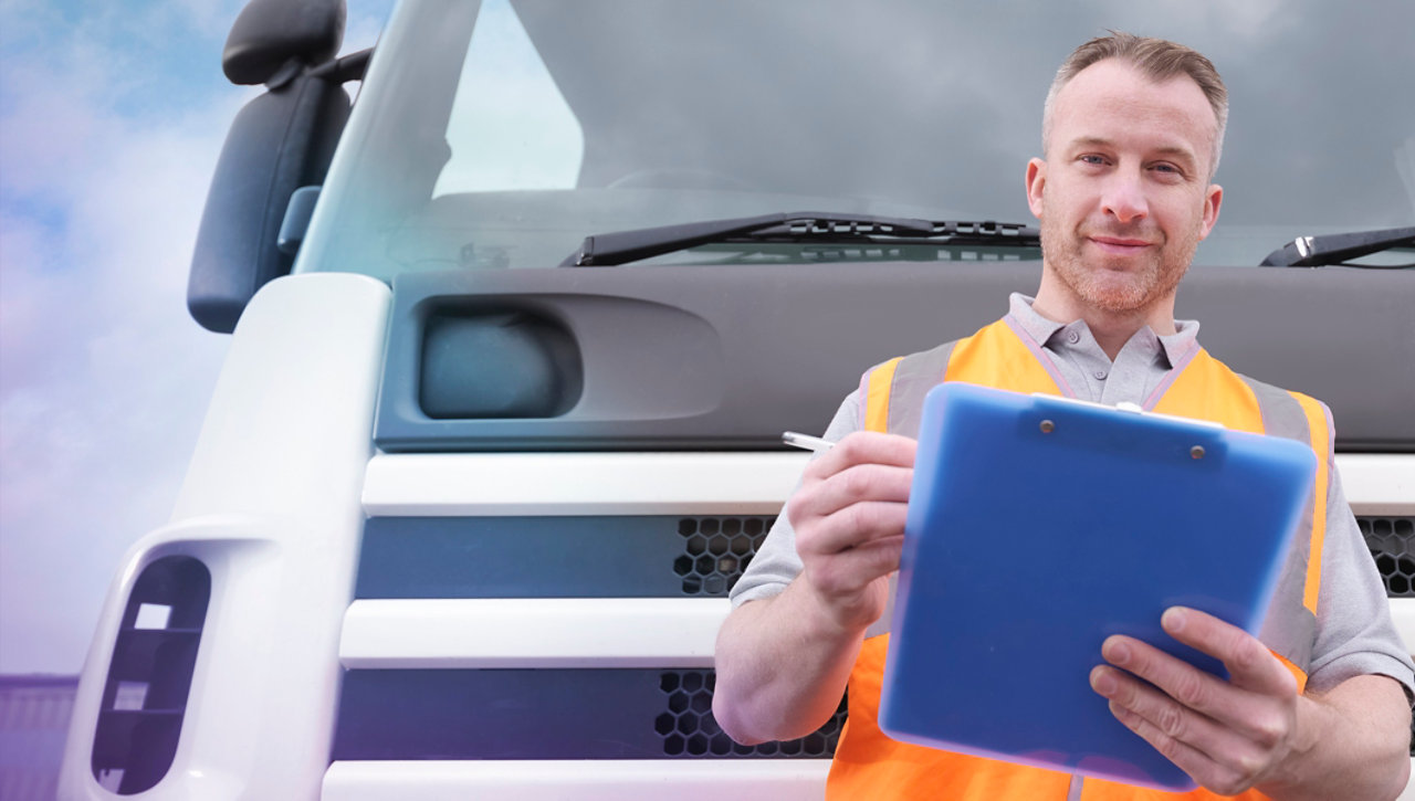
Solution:
[[[799,740],[739,746],[706,669],[348,671],[335,760],[829,759],[845,705]]]

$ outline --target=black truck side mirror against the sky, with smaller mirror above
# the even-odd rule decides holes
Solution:
[[[368,51],[330,61],[344,18],[344,0],[252,0],[231,27],[226,78],[267,91],[232,122],[197,231],[187,309],[204,328],[235,330],[256,290],[294,263],[277,243],[286,207],[324,183],[350,116],[342,83],[368,64]]]

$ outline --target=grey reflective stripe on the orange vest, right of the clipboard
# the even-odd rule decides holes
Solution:
[[[1302,405],[1286,389],[1279,389],[1247,375],[1240,375],[1252,389],[1262,412],[1262,430],[1268,436],[1283,437],[1312,446],[1312,430]],[[1268,607],[1268,618],[1262,623],[1258,638],[1264,645],[1282,654],[1285,659],[1307,672],[1312,667],[1312,647],[1316,640],[1317,618],[1303,604],[1307,587],[1307,565],[1312,559],[1312,525],[1316,497],[1307,498],[1298,524],[1298,536],[1288,555],[1288,563],[1278,576],[1278,590]],[[1320,555],[1317,555],[1320,559]]]

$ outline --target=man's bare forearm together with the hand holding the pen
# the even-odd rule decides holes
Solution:
[[[804,737],[839,706],[899,567],[914,450],[860,432],[807,466],[785,511],[802,572],[739,606],[717,634],[713,715],[739,743]]]

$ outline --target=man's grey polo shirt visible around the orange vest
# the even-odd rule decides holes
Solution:
[[[1007,316],[1051,357],[1067,384],[1061,388],[1064,392],[1098,403],[1143,403],[1173,365],[1199,347],[1199,323],[1176,320],[1176,331],[1167,335],[1155,334],[1148,325],[1140,328],[1111,361],[1084,320],[1068,324],[1047,320],[1023,294],[1009,299]],[[855,391],[841,403],[825,439],[835,442],[860,430],[860,398]],[[733,607],[780,593],[799,572],[795,531],[782,509],[751,565],[733,586]],[[886,611],[869,634],[887,631],[890,617]],[[1415,664],[1391,621],[1384,584],[1341,491],[1340,476],[1333,470],[1307,686],[1323,692],[1365,674],[1392,676],[1405,685],[1407,693],[1415,693]]]

